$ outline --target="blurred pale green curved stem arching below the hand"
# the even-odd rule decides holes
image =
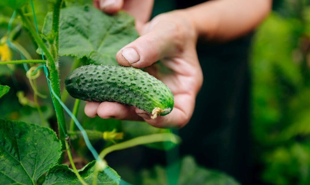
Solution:
[[[125,148],[134,147],[141,144],[150,144],[150,143],[156,143],[156,142],[163,142],[163,141],[170,141],[172,143],[179,143],[180,138],[179,136],[171,133],[160,133],[160,134],[152,134],[147,136],[140,136],[136,137],[134,139],[124,141],[122,143],[114,144],[112,146],[109,146],[107,148],[104,148],[99,156],[100,158],[104,159],[104,157],[115,150],[122,150]]]

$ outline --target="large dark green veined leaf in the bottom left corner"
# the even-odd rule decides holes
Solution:
[[[60,148],[49,128],[0,119],[1,184],[36,184],[57,163]]]

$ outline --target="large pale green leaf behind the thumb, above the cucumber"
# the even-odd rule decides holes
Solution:
[[[42,33],[51,32],[52,14],[48,13]],[[117,65],[115,55],[138,37],[135,20],[125,12],[107,15],[91,5],[61,9],[59,55],[86,57],[96,65]]]

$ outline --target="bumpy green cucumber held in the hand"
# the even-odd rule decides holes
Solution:
[[[158,107],[169,114],[174,105],[170,89],[152,75],[133,67],[86,65],[71,71],[65,79],[69,94],[85,101],[128,104],[152,113]]]

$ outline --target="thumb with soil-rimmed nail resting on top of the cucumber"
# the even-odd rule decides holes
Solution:
[[[161,23],[148,30],[151,31],[117,52],[116,59],[120,65],[135,68],[148,67],[175,53],[177,39],[175,39],[175,29],[171,30],[171,23],[169,26]]]

